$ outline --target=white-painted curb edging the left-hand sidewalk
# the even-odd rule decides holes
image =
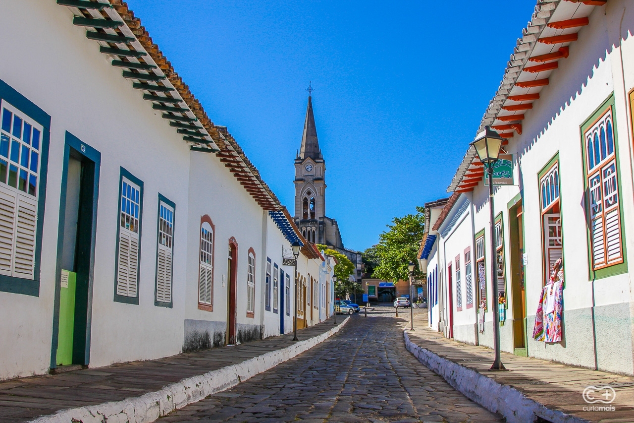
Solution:
[[[290,347],[267,352],[237,365],[212,370],[204,375],[188,377],[165,386],[160,391],[147,393],[123,401],[60,410],[52,415],[32,420],[37,423],[150,423],[174,410],[195,403],[205,397],[229,389],[258,373],[294,358],[328,339],[346,325],[343,323],[316,337],[302,340]]]

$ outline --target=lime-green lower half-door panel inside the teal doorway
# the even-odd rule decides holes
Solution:
[[[75,328],[75,286],[77,273],[61,271],[60,332],[57,344],[57,365],[73,363],[73,332]]]

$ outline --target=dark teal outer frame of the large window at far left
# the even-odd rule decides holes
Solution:
[[[24,192],[23,194],[16,192],[16,195],[18,197],[23,196],[25,199],[27,199],[30,196],[31,198],[36,198],[37,199],[36,210],[32,210],[34,211],[34,213],[31,214],[31,217],[28,219],[29,220],[28,222],[25,222],[25,221],[20,222],[19,207],[18,207],[18,211],[16,211],[13,217],[6,215],[5,211],[3,211],[3,215],[2,215],[3,220],[5,221],[7,220],[7,218],[9,218],[9,220],[11,220],[12,222],[15,222],[15,219],[18,220],[16,224],[18,228],[15,229],[14,232],[11,232],[11,234],[13,234],[15,238],[20,238],[19,236],[22,233],[20,230],[20,227],[23,224],[28,224],[29,226],[31,226],[31,228],[29,229],[29,238],[30,238],[29,243],[31,244],[31,247],[29,248],[29,252],[27,255],[32,256],[32,259],[29,258],[29,261],[32,261],[32,264],[29,265],[29,266],[32,266],[32,271],[21,272],[22,273],[21,276],[15,276],[16,272],[13,272],[13,271],[3,272],[3,274],[0,274],[0,291],[39,297],[40,265],[41,265],[41,253],[42,253],[42,229],[44,227],[44,209],[46,205],[46,179],[48,175],[48,154],[49,154],[51,116],[46,114],[46,112],[42,111],[42,109],[37,107],[37,105],[35,105],[30,100],[28,100],[26,97],[24,97],[22,94],[20,94],[18,91],[13,89],[10,85],[5,83],[1,79],[0,79],[0,103],[2,105],[7,104],[7,109],[12,109],[11,110],[12,120],[13,120],[13,116],[18,116],[18,119],[22,119],[20,120],[20,129],[22,131],[27,130],[27,124],[22,124],[22,123],[28,120],[30,121],[30,123],[37,124],[39,126],[39,132],[40,132],[40,135],[38,138],[40,141],[39,171],[37,171],[37,178],[39,178],[39,181],[36,182],[36,184],[39,186],[37,188],[30,187],[31,189],[26,189],[27,192]],[[4,119],[3,115],[4,115],[4,107],[0,109],[0,119]],[[25,117],[27,118],[26,120],[24,119]],[[16,131],[16,134],[13,134],[13,130],[15,130],[16,127],[17,126],[14,123],[13,128],[10,128],[11,132],[3,133],[3,135],[9,135],[10,138],[13,137],[13,135],[17,135],[17,131]],[[6,129],[6,126],[5,126],[5,129]],[[33,129],[33,126],[31,126],[30,138],[34,139],[33,136],[34,136],[34,129]],[[17,137],[17,138],[22,140],[22,138],[24,137],[25,137],[24,132],[22,132],[20,134],[20,137]],[[25,149],[28,148],[28,145],[22,141],[20,141],[20,143],[18,144],[20,144],[22,155],[24,155]],[[25,163],[22,163],[22,162],[23,161],[20,160],[20,163],[16,163],[16,164],[18,164],[19,166],[23,166],[23,164],[26,163],[26,162]],[[30,164],[31,163],[28,163],[26,166],[23,166],[23,169],[25,170],[22,171],[22,173],[24,173],[25,171],[28,173]],[[18,176],[18,179],[19,179],[19,176]],[[20,185],[18,185],[18,188],[19,187]],[[37,194],[37,195],[35,196],[34,194]],[[27,202],[29,202],[28,199],[27,199]],[[30,201],[30,203],[33,203],[33,202],[34,201]],[[10,252],[7,252],[8,254],[6,255],[6,260],[10,260],[10,262],[12,263],[16,261],[15,250],[16,248],[14,246],[14,248],[11,248]],[[15,267],[15,266],[11,266],[11,267]]]

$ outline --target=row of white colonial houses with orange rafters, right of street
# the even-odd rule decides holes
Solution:
[[[632,32],[625,0],[538,1],[479,128],[508,138],[512,171],[495,186],[495,234],[472,148],[437,224],[447,336],[493,346],[500,307],[504,351],[634,373]],[[544,342],[533,337],[536,312],[559,258],[561,339]],[[503,300],[492,298],[492,271]]]

